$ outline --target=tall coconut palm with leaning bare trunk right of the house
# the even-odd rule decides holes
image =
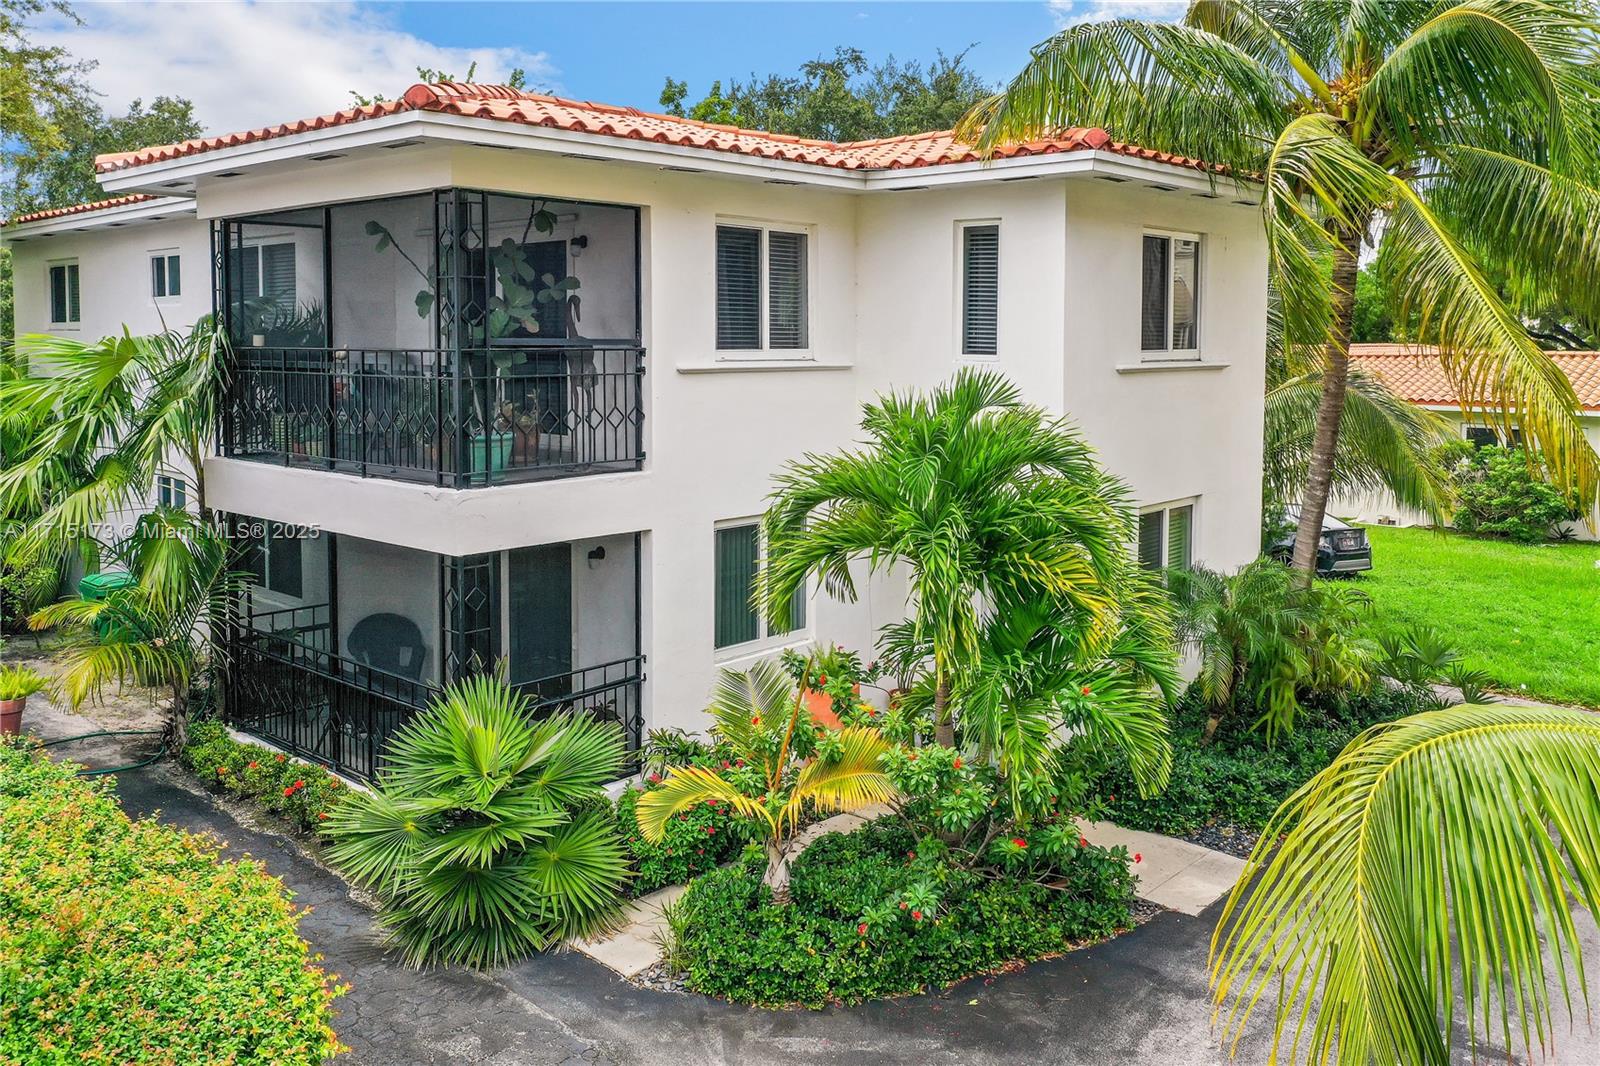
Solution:
[[[1565,488],[1595,496],[1571,384],[1486,266],[1507,291],[1600,311],[1597,34],[1587,0],[1194,0],[1181,24],[1043,42],[958,134],[992,150],[1099,125],[1259,182],[1286,330],[1322,371],[1294,541],[1310,584],[1368,240],[1462,403],[1515,418]]]

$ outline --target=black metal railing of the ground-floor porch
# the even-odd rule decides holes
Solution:
[[[520,688],[538,714],[571,711],[619,723],[632,767],[642,739],[642,683],[643,659],[634,656]],[[286,631],[251,629],[229,656],[226,707],[235,727],[370,781],[382,770],[389,738],[438,691],[434,682],[373,669]]]

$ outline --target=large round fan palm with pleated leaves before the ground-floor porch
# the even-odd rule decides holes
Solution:
[[[533,717],[504,679],[456,682],[390,739],[370,792],[325,823],[328,858],[379,896],[411,965],[494,967],[610,928],[627,852],[603,786],[616,723]]]

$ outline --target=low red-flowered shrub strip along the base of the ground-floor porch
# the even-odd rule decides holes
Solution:
[[[221,722],[192,725],[181,760],[202,781],[254,800],[307,832],[333,815],[333,805],[349,789],[322,767],[238,743]]]

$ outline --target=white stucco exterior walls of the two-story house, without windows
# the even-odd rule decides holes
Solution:
[[[213,501],[453,555],[606,538],[610,563],[611,544],[632,559],[619,535],[640,530],[646,728],[702,727],[717,666],[779,647],[712,647],[717,523],[758,515],[786,461],[854,442],[862,402],[885,389],[928,389],[962,365],[963,219],[1000,226],[994,365],[1030,402],[1078,423],[1138,503],[1197,498],[1198,559],[1235,567],[1256,554],[1266,258],[1251,208],[1093,178],[862,194],[478,147],[394,152],[382,166],[338,160],[272,178],[206,179],[198,208],[205,218],[234,216],[451,184],[642,208],[645,467],[454,491],[213,459]],[[718,359],[714,262],[723,219],[810,234],[803,359]],[[1118,370],[1139,363],[1146,226],[1203,235],[1206,368]],[[600,315],[600,285],[582,277],[589,327],[589,307]],[[579,551],[574,544],[574,565]],[[344,581],[355,567],[341,555],[339,571]],[[606,573],[622,579],[622,567]],[[902,607],[904,584],[883,576],[861,583],[856,605],[813,594],[810,624],[789,642],[869,648]],[[341,610],[341,623],[347,615]],[[579,603],[584,658],[598,624]]]

